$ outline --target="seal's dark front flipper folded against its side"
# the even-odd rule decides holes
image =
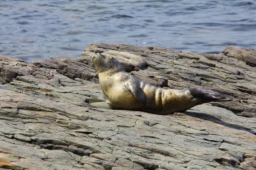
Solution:
[[[140,85],[134,82],[125,82],[125,87],[131,92],[131,94],[137,99],[139,102],[141,102],[143,105],[148,105],[148,98],[145,95],[142,88],[140,88]]]

